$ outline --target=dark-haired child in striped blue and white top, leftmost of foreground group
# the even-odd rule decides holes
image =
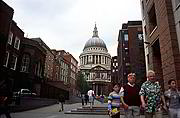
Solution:
[[[108,112],[112,118],[120,118],[119,84],[113,86],[113,92],[108,97]]]

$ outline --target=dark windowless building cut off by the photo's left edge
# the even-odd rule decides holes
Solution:
[[[13,18],[14,10],[8,6],[2,0],[0,1],[0,89],[8,88],[9,92],[12,92],[13,83],[12,79],[10,80],[6,74],[8,69],[4,66],[5,57],[6,57],[6,45],[8,41],[9,30],[11,28],[12,18]],[[2,88],[4,85],[6,87]],[[4,91],[4,90],[3,90]],[[0,91],[1,92],[1,91]]]

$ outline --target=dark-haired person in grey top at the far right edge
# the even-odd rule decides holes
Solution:
[[[171,79],[168,81],[169,89],[164,95],[167,98],[169,107],[169,118],[180,118],[180,92],[176,87],[176,81]]]

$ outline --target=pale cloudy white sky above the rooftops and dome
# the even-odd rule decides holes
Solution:
[[[111,56],[117,55],[122,23],[141,20],[140,0],[4,0],[25,37],[40,37],[51,49],[65,50],[77,61],[96,23]]]

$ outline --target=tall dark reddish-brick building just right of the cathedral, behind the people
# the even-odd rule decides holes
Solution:
[[[118,81],[126,83],[128,73],[134,72],[137,83],[141,84],[146,77],[142,21],[128,21],[122,25],[117,52]]]

